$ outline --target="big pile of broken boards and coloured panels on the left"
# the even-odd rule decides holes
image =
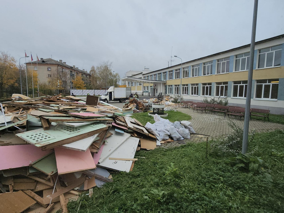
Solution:
[[[2,100],[0,213],[68,212],[80,192],[91,197],[93,187],[113,181],[111,173],[131,171],[135,152],[158,142],[128,113],[95,96]]]

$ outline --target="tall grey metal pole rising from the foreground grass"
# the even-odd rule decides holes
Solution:
[[[256,32],[256,17],[257,17],[258,0],[254,0],[254,15],[252,20],[251,30],[251,50],[249,53],[249,74],[248,74],[248,88],[246,92],[246,111],[243,126],[243,145],[242,154],[246,154],[248,151],[248,138],[249,138],[249,111],[251,108],[251,86],[252,86],[252,74],[254,69],[254,45],[255,45],[255,32]]]

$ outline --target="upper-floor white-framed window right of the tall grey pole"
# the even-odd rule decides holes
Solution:
[[[274,46],[259,50],[258,68],[280,66],[282,46]]]

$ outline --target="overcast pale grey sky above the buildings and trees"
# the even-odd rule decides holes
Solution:
[[[253,0],[1,1],[0,51],[62,59],[121,77],[250,43]],[[284,1],[259,0],[256,41],[284,33]],[[179,59],[172,65],[180,63]]]

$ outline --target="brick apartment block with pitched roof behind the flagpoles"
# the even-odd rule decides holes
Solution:
[[[62,62],[62,60],[57,61],[51,58],[41,58],[38,63],[36,61],[32,63],[28,62],[27,68],[28,70],[38,72],[39,83],[46,83],[57,87],[57,81],[60,80],[60,86],[68,90],[73,88],[72,80],[78,75],[82,77],[85,84],[88,85],[90,83],[91,75],[88,72],[84,69],[80,70],[75,65],[70,66],[66,62]]]

